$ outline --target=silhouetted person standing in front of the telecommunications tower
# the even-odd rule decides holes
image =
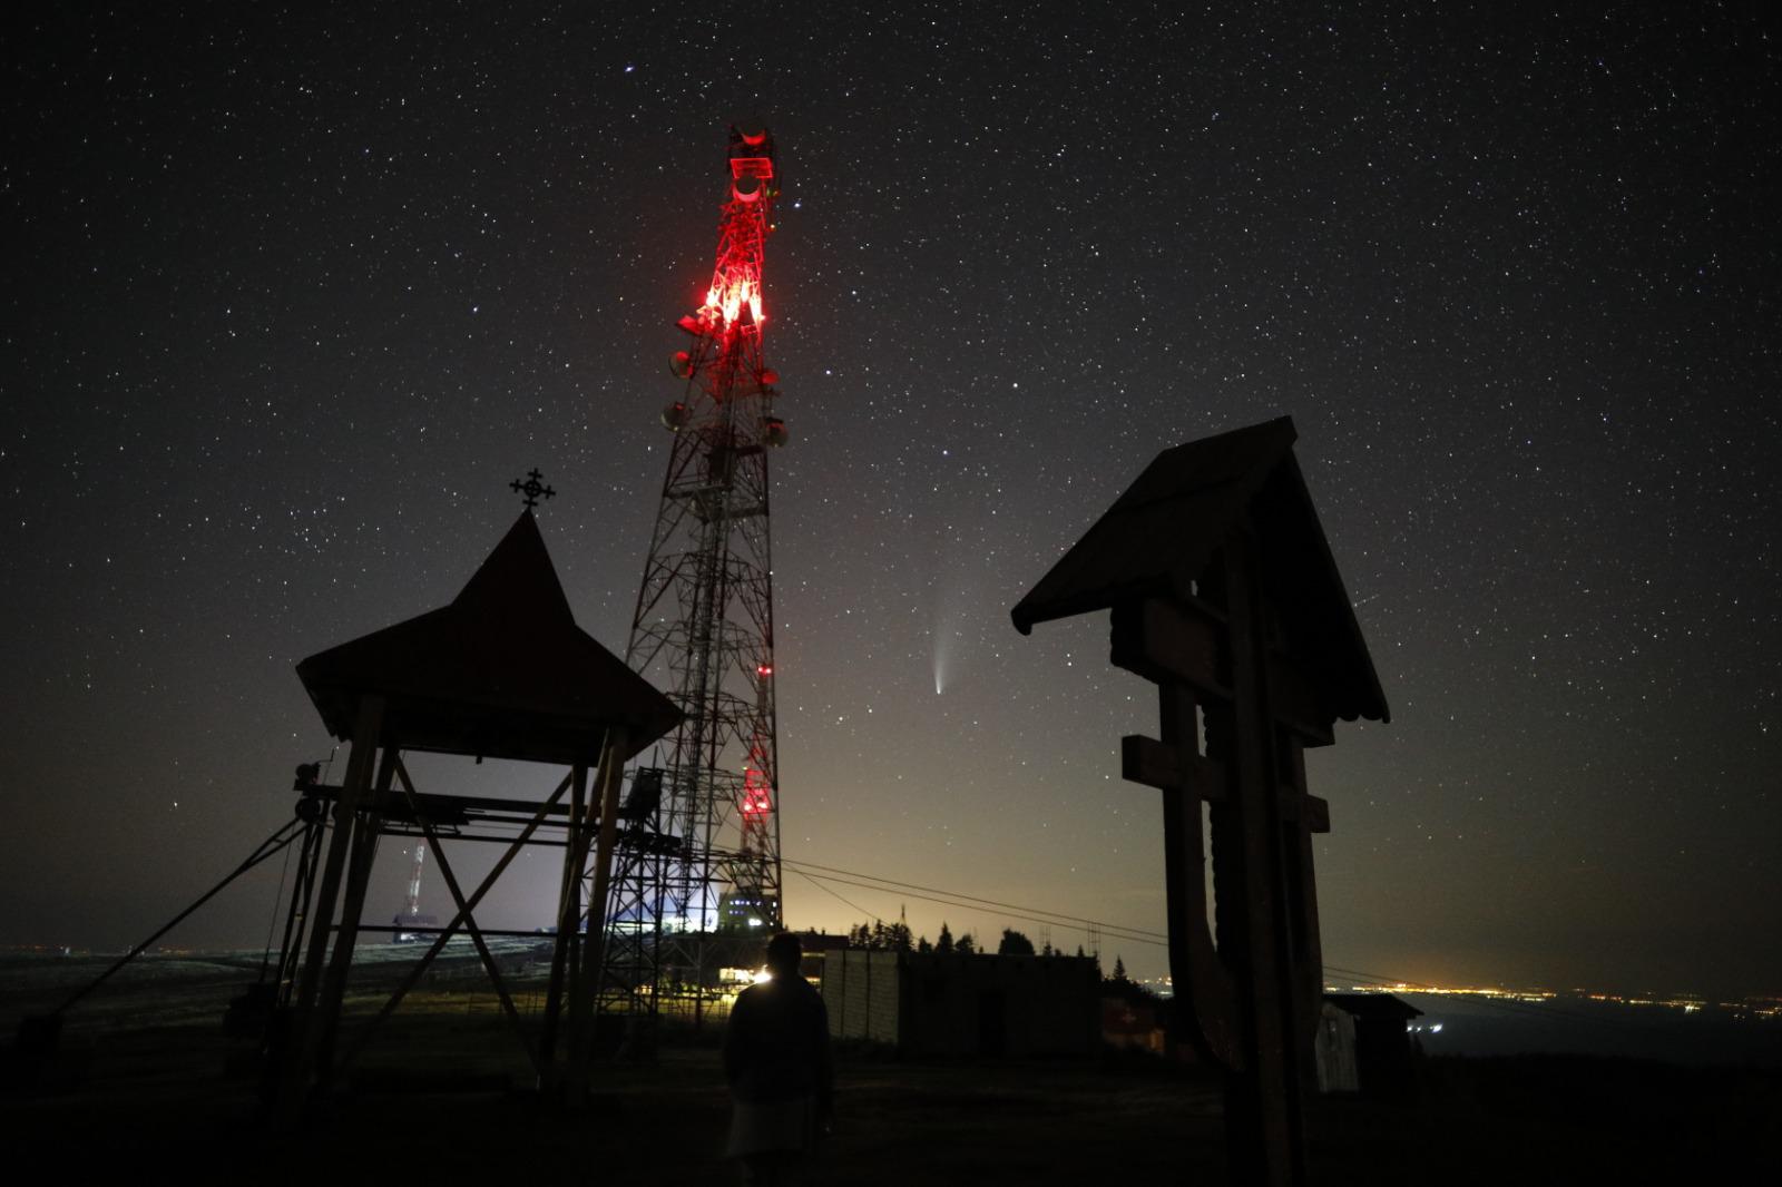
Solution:
[[[745,1183],[797,1183],[829,1125],[834,1069],[829,1011],[798,975],[798,937],[768,941],[768,975],[736,996],[723,1032],[723,1075],[731,1082],[731,1141]]]

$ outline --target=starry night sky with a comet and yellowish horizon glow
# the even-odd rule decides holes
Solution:
[[[449,601],[531,467],[624,651],[759,118],[788,859],[1162,930],[1116,752],[1149,686],[1105,615],[1007,611],[1155,453],[1290,413],[1394,715],[1312,756],[1326,961],[1782,995],[1782,43],[1743,5],[37,7],[0,50],[0,943],[123,946],[287,820],[331,747],[292,665]],[[485,923],[545,923],[554,861]],[[276,886],[173,941],[264,943]]]

